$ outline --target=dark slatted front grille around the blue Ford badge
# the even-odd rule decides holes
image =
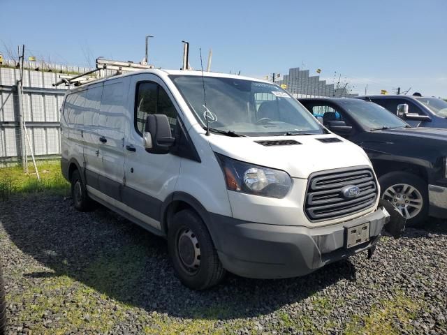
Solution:
[[[342,188],[351,185],[360,188],[360,193],[355,198],[345,198]],[[376,179],[369,168],[316,172],[307,184],[305,212],[310,221],[330,220],[367,209],[376,198]]]

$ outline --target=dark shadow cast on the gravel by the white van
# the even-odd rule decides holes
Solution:
[[[262,281],[228,274],[217,288],[194,292],[175,277],[164,239],[108,209],[80,213],[71,200],[47,195],[12,198],[0,207],[0,221],[15,246],[54,271],[24,269],[23,276],[66,275],[149,312],[180,318],[246,318],[356,277],[355,267],[345,260],[302,278]]]

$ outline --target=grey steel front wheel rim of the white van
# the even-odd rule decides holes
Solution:
[[[200,246],[196,234],[185,228],[178,234],[177,252],[180,262],[190,274],[196,274],[200,267]]]

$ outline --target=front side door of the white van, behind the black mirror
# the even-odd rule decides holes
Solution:
[[[173,96],[156,75],[131,77],[129,90],[129,132],[124,140],[124,203],[142,214],[139,218],[159,229],[161,205],[170,193],[180,172],[179,156],[150,154],[143,146],[142,133],[148,114],[166,114],[173,136],[180,117]]]

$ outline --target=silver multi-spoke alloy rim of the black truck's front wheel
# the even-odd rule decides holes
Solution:
[[[417,188],[409,184],[395,184],[383,192],[382,199],[391,202],[408,220],[420,213],[423,198]]]

